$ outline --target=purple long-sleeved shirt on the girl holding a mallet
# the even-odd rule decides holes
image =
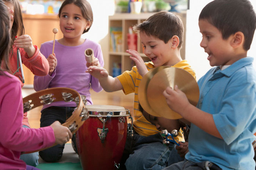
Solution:
[[[48,57],[52,54],[53,41],[45,42],[41,45],[41,53]],[[36,91],[44,90],[53,87],[67,87],[76,90],[78,93],[85,95],[87,104],[93,104],[91,100],[90,88],[96,92],[100,92],[102,87],[99,80],[91,76],[89,73],[85,73],[87,70],[85,60],[85,50],[92,48],[94,51],[94,57],[99,60],[101,66],[104,66],[104,60],[102,56],[101,46],[91,40],[86,39],[82,45],[78,46],[65,46],[58,43],[55,40],[54,53],[57,59],[57,66],[52,73],[47,76],[35,76],[34,89]],[[75,107],[75,102],[53,102],[49,105],[44,105],[44,108],[50,106],[66,106]]]

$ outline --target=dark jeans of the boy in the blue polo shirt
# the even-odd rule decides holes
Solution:
[[[221,168],[209,161],[192,162],[185,159],[184,161],[173,164],[163,170],[221,170]]]

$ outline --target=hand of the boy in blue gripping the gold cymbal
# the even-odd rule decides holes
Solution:
[[[165,91],[163,91],[163,96],[165,96],[168,106],[173,111],[181,114],[181,116],[188,105],[190,105],[186,94],[179,90],[177,85],[174,86],[174,90],[171,87],[167,87]]]

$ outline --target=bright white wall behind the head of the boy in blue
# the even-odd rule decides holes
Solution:
[[[212,0],[190,0],[190,9],[187,10],[187,28],[186,28],[186,52],[185,58],[196,72],[197,80],[202,77],[210,68],[207,60],[207,53],[200,47],[202,34],[199,32],[198,17],[204,6]],[[254,9],[256,9],[256,0],[250,0]],[[256,68],[256,35],[254,34],[251,49],[248,56],[254,57],[254,68]]]

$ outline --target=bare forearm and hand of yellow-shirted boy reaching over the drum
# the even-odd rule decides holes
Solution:
[[[107,92],[123,89],[118,78],[109,76],[107,70],[102,67],[90,66],[86,72],[99,79],[101,87]]]

